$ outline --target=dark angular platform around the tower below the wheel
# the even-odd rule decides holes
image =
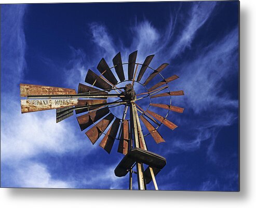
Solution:
[[[135,147],[119,162],[115,169],[115,175],[117,177],[125,176],[135,162],[144,163],[152,168],[158,169],[163,169],[166,165],[166,159],[164,157],[154,152]]]

